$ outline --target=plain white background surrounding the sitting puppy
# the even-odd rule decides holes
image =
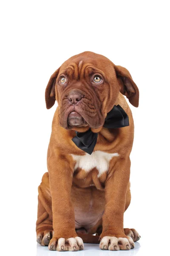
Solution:
[[[46,110],[45,87],[51,74],[66,59],[88,50],[126,67],[139,87],[139,108],[130,106],[135,122],[132,201],[125,212],[124,226],[135,228],[142,238],[136,249],[130,251],[105,252],[98,250],[98,245],[91,247],[92,251],[85,244],[86,250],[80,253],[147,256],[165,251],[168,254],[168,2],[1,1],[2,255],[57,254],[47,247],[37,247],[35,233],[37,187],[47,171],[46,153],[57,107],[55,104]]]

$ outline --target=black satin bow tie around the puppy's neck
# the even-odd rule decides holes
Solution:
[[[105,118],[105,128],[121,128],[129,125],[127,113],[120,105],[114,105],[112,110]],[[91,128],[85,132],[76,131],[76,136],[72,139],[78,148],[91,154],[97,142],[97,133],[91,131]]]

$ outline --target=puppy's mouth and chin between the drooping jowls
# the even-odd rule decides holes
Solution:
[[[73,126],[82,127],[88,125],[85,119],[76,111],[72,111],[71,113],[69,113],[67,123],[68,127],[70,128]]]

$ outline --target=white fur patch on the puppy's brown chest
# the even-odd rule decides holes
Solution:
[[[83,156],[74,155],[71,154],[73,159],[76,161],[74,170],[77,168],[85,170],[85,172],[90,172],[91,169],[96,167],[99,174],[102,175],[102,173],[107,172],[109,168],[109,162],[112,159],[112,157],[118,157],[118,153],[106,153],[104,151],[94,151],[91,155],[88,153],[85,153]]]

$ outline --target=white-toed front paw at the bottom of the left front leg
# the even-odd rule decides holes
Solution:
[[[50,240],[48,245],[49,250],[57,250],[57,251],[78,251],[84,249],[84,244],[82,239],[77,236],[75,238],[71,237],[68,239],[64,238],[55,238],[53,237]]]

